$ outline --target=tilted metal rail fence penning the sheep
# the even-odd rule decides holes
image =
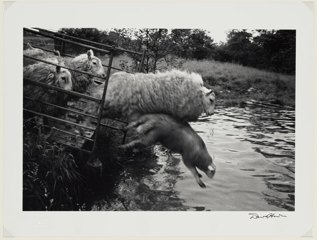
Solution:
[[[48,38],[54,39],[54,41],[61,41],[62,42],[61,49],[60,49],[61,51],[57,51],[57,49],[56,49],[57,48],[56,47],[57,44],[55,44],[54,50],[50,50],[50,49],[47,49],[47,48],[37,47],[37,46],[31,45],[34,48],[39,48],[39,49],[42,49],[44,51],[49,51],[49,52],[52,52],[52,53],[55,53],[55,54],[59,53],[60,56],[66,56],[66,57],[74,58],[74,56],[65,53],[65,43],[70,43],[70,44],[74,44],[76,46],[87,47],[87,48],[92,49],[94,51],[109,55],[110,57],[109,57],[108,65],[102,64],[102,66],[107,67],[107,74],[106,74],[105,77],[102,77],[102,76],[99,76],[99,75],[96,75],[96,74],[93,74],[93,73],[87,73],[87,72],[84,72],[84,71],[81,71],[81,70],[78,70],[78,69],[75,69],[75,68],[71,68],[71,67],[67,67],[67,66],[61,66],[60,64],[56,64],[56,63],[53,63],[53,62],[50,62],[50,61],[47,61],[47,60],[43,60],[43,59],[40,59],[40,58],[28,56],[28,55],[25,55],[25,54],[23,54],[23,57],[29,58],[29,59],[32,59],[32,60],[36,60],[36,61],[39,61],[39,62],[44,62],[44,63],[47,63],[47,64],[51,64],[51,65],[54,65],[54,66],[60,66],[62,68],[65,68],[65,69],[68,69],[68,70],[72,70],[74,72],[83,73],[83,74],[87,74],[87,75],[92,76],[92,77],[103,79],[105,85],[104,85],[102,98],[94,98],[94,97],[86,95],[86,94],[81,94],[81,93],[78,93],[78,92],[73,92],[73,91],[69,91],[69,90],[66,90],[66,89],[63,89],[63,88],[59,88],[59,87],[56,87],[56,86],[52,86],[52,85],[48,85],[48,84],[45,84],[45,83],[41,83],[41,82],[35,81],[34,79],[28,79],[28,78],[24,78],[23,77],[23,83],[34,84],[34,85],[38,85],[38,86],[45,87],[45,88],[48,88],[48,89],[52,89],[52,90],[56,90],[56,91],[59,91],[59,92],[67,93],[67,94],[70,94],[70,95],[73,95],[73,96],[76,96],[76,97],[80,97],[80,98],[84,98],[84,99],[87,99],[87,100],[90,100],[90,101],[97,102],[97,103],[101,104],[101,106],[103,106],[103,104],[105,102],[105,98],[106,98],[108,80],[109,80],[111,69],[116,69],[116,70],[119,70],[119,71],[125,71],[125,72],[128,72],[128,73],[133,73],[133,72],[126,71],[126,70],[123,70],[123,69],[120,69],[120,68],[112,66],[113,55],[114,55],[115,51],[126,52],[126,53],[129,53],[129,54],[141,55],[142,56],[142,60],[140,62],[140,66],[139,66],[139,72],[142,71],[143,64],[144,64],[144,59],[145,59],[145,55],[146,55],[146,49],[143,51],[143,53],[139,53],[139,52],[126,50],[126,49],[115,47],[115,46],[109,46],[109,45],[101,44],[101,43],[98,43],[98,42],[93,42],[93,41],[88,41],[88,40],[77,38],[77,37],[73,37],[73,36],[68,36],[68,35],[65,35],[65,34],[53,32],[53,31],[50,31],[50,30],[42,29],[42,28],[33,28],[33,29],[36,29],[38,31],[29,29],[29,28],[23,28],[23,31],[30,32],[30,33],[33,33],[33,34],[36,34],[36,35],[40,35],[40,36],[44,36],[44,37],[48,37]],[[106,48],[107,50],[102,49],[102,48],[92,47],[90,45],[82,44],[82,43],[79,43],[79,42],[76,42],[76,41],[85,42],[87,44],[98,45],[100,47]],[[23,44],[27,45],[27,43],[23,43]],[[95,79],[94,79],[94,81],[97,84],[101,84],[102,83],[101,81],[97,81]],[[68,134],[70,136],[80,137],[80,138],[82,138],[82,139],[84,139],[86,141],[92,141],[93,142],[93,146],[92,146],[91,151],[85,150],[85,149],[82,149],[82,148],[79,148],[79,147],[76,147],[76,146],[71,146],[71,145],[66,144],[66,143],[62,143],[62,144],[64,144],[65,146],[67,146],[69,148],[76,148],[78,150],[81,150],[81,151],[83,151],[85,153],[90,154],[91,158],[93,158],[94,154],[95,154],[96,142],[97,142],[97,139],[98,139],[98,133],[99,133],[99,130],[100,130],[100,126],[104,126],[104,127],[115,129],[115,130],[120,130],[119,128],[116,128],[116,127],[101,123],[102,107],[100,108],[100,112],[99,112],[98,116],[93,116],[93,115],[84,113],[83,109],[81,109],[79,107],[72,106],[72,105],[68,105],[68,108],[64,108],[64,107],[61,107],[61,106],[58,106],[58,105],[54,105],[54,104],[46,103],[46,102],[43,102],[43,101],[39,101],[37,99],[33,99],[33,98],[30,98],[30,97],[27,97],[27,96],[23,96],[23,98],[27,99],[27,100],[36,101],[36,102],[39,102],[39,103],[42,103],[42,104],[47,104],[47,105],[56,107],[58,109],[61,109],[63,111],[68,111],[68,112],[72,112],[72,113],[75,113],[75,114],[78,114],[78,115],[83,115],[85,117],[91,117],[91,118],[96,119],[97,120],[96,127],[95,128],[91,128],[89,126],[83,126],[83,125],[78,124],[78,123],[74,123],[74,122],[71,122],[71,121],[68,121],[68,120],[64,120],[64,119],[61,119],[61,118],[58,118],[58,117],[53,117],[53,116],[50,116],[50,115],[47,115],[47,114],[43,114],[43,113],[40,113],[40,112],[36,112],[36,111],[32,111],[32,110],[23,108],[24,111],[28,111],[28,112],[31,112],[33,114],[37,114],[37,115],[40,115],[40,116],[43,116],[43,117],[47,117],[49,119],[53,119],[53,120],[59,121],[61,123],[68,123],[68,124],[76,126],[76,127],[85,128],[85,129],[94,131],[94,135],[93,135],[94,137],[93,138],[88,138],[86,136],[81,136],[81,135],[78,135],[78,134],[70,132],[70,131],[65,131],[65,130],[62,130],[62,129],[55,128],[55,130],[57,130],[57,131],[59,131],[61,133]],[[81,100],[81,101],[84,102],[84,103],[87,103],[87,101],[85,101],[85,100]],[[70,108],[73,108],[75,110],[70,109]],[[120,119],[113,119],[113,120],[126,123],[125,121],[122,121]],[[49,127],[47,125],[44,125],[44,126],[45,127]],[[123,134],[122,143],[125,142],[126,133],[127,132],[125,131],[124,134]]]

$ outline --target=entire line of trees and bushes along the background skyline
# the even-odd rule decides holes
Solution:
[[[97,28],[61,28],[59,32],[135,52],[146,49],[146,73],[181,67],[182,59],[209,59],[295,74],[295,30],[232,29],[227,33],[227,42],[219,44],[203,29],[123,28],[107,32]],[[66,50],[81,54],[88,49],[67,44]],[[142,56],[128,55],[132,63],[122,62],[123,69],[139,71]]]

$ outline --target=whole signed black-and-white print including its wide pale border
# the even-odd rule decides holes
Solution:
[[[19,3],[16,12],[32,4]],[[10,42],[17,49],[10,57],[19,64],[10,80],[15,83],[5,70],[4,86],[16,85],[21,95],[12,102],[10,90],[4,98],[4,116],[18,114],[4,122],[8,131],[16,123],[18,133],[4,131],[8,146],[16,148],[4,158],[4,203],[10,205],[4,219],[11,215],[6,236],[255,236],[256,229],[259,236],[312,235],[313,148],[307,129],[313,75],[306,56],[313,38],[303,34],[313,33],[309,14],[308,30],[294,19],[263,24],[261,18],[256,24],[246,16],[239,24],[230,16],[215,27],[206,20],[236,14],[234,3],[50,4],[50,11],[56,5],[65,7],[62,12],[72,6],[81,12],[84,6],[123,10],[104,16],[104,25],[92,19],[87,24],[5,18],[18,36]],[[184,14],[202,6],[219,12],[210,8],[215,16],[207,16],[203,7],[195,24],[168,23],[179,4]],[[255,6],[244,4],[239,9],[249,7],[255,16]],[[261,16],[267,8],[277,18],[283,6],[309,11],[266,3]],[[150,19],[145,9],[153,7],[164,9],[167,19],[139,24]],[[14,8],[15,3],[6,9]],[[289,12],[282,13],[285,19],[291,19]],[[185,17],[175,14],[175,21]],[[4,62],[6,69],[9,59]],[[10,179],[16,182],[12,188]],[[24,216],[21,231],[12,227],[11,212]],[[299,214],[306,216],[305,226],[292,228]],[[172,227],[174,216],[180,221]],[[125,230],[115,232],[120,219],[126,219]],[[67,221],[74,227],[66,227]],[[229,233],[220,230],[237,222]],[[156,223],[162,232],[155,232]],[[200,225],[204,230],[198,233]]]

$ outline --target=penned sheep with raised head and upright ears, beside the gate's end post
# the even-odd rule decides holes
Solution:
[[[87,73],[94,73],[102,77],[105,76],[105,70],[101,65],[101,60],[94,56],[94,52],[91,49],[87,52],[87,54],[81,54],[70,60],[66,66],[85,71]],[[92,76],[75,71],[70,71],[70,73],[72,74],[74,92],[85,94],[89,85],[94,83],[94,77]],[[78,98],[73,97],[73,99],[77,100]]]

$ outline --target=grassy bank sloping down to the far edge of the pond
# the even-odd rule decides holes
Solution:
[[[295,106],[295,76],[292,75],[211,60],[188,60],[182,69],[200,73],[204,85],[215,90],[218,105],[236,105],[252,98]],[[251,87],[256,91],[248,93]]]

